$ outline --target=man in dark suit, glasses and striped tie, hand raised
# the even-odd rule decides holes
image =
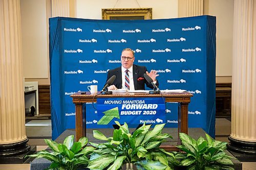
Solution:
[[[129,90],[145,90],[145,84],[149,88],[154,88],[152,84],[148,83],[144,78],[146,73],[154,83],[158,86],[158,81],[156,80],[157,75],[156,70],[147,71],[145,66],[139,66],[133,64],[135,60],[134,51],[131,48],[125,48],[121,54],[120,67],[111,69],[108,71],[109,80],[113,75],[116,75],[115,81],[109,86],[109,90],[116,89],[129,89]]]

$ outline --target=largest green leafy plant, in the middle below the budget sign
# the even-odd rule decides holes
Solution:
[[[92,143],[97,149],[91,155],[88,168],[90,169],[120,169],[125,163],[134,163],[138,169],[169,169],[167,153],[159,146],[166,138],[172,136],[161,131],[165,124],[156,125],[150,131],[151,125],[143,125],[130,133],[126,123],[115,129],[112,137],[106,137],[100,131],[94,130],[96,139],[106,141],[104,143]]]

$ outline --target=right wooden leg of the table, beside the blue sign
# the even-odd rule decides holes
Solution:
[[[179,133],[188,133],[187,125],[187,112],[188,112],[188,103],[179,103],[178,104],[178,144],[181,144]]]

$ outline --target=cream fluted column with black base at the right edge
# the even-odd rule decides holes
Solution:
[[[228,149],[256,155],[256,0],[234,1]]]

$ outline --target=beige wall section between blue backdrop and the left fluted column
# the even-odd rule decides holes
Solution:
[[[25,78],[48,78],[45,0],[20,0]]]

